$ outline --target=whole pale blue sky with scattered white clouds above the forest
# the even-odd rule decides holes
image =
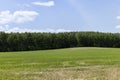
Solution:
[[[0,0],[0,31],[120,32],[120,0]]]

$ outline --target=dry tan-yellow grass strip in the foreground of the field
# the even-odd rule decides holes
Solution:
[[[120,67],[108,66],[8,71],[4,74],[7,73],[11,74],[9,80],[120,80]]]

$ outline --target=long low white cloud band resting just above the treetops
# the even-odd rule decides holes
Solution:
[[[10,33],[10,32],[51,32],[51,33],[58,33],[58,32],[71,32],[72,30],[65,30],[65,29],[28,29],[28,28],[20,28],[20,27],[13,27],[11,28],[9,25],[0,26],[0,31]]]

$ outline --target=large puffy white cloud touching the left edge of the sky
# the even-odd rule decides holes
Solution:
[[[15,11],[11,13],[9,10],[0,12],[0,24],[8,23],[24,23],[33,21],[38,15],[35,11]]]

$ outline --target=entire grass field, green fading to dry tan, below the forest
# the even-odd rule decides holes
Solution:
[[[1,52],[0,80],[120,80],[120,49]]]

